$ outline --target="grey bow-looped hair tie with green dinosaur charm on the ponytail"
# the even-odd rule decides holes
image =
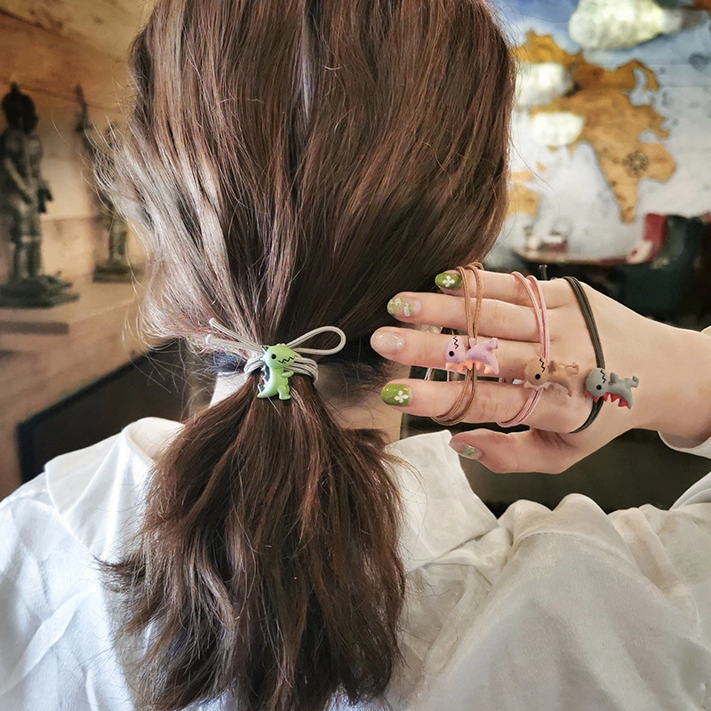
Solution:
[[[346,345],[346,334],[336,326],[321,326],[313,331],[304,333],[298,339],[289,343],[278,343],[276,346],[262,346],[253,340],[245,339],[234,331],[230,331],[226,326],[220,324],[216,319],[210,319],[210,325],[216,331],[228,336],[230,340],[216,338],[212,334],[205,336],[205,343],[208,346],[220,346],[228,353],[240,355],[242,351],[258,353],[259,356],[252,356],[247,359],[244,365],[244,373],[251,374],[261,368],[264,374],[264,382],[260,385],[259,398],[274,397],[279,395],[280,400],[289,400],[292,395],[289,389],[289,379],[295,373],[308,375],[318,379],[318,364],[311,358],[305,358],[301,354],[309,353],[316,356],[332,356],[338,353]],[[300,343],[314,338],[321,333],[337,333],[340,336],[340,343],[334,348],[297,348]]]

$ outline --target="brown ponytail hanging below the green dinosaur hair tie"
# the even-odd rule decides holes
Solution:
[[[104,565],[120,638],[149,637],[129,676],[151,711],[223,694],[240,711],[321,711],[379,696],[399,659],[382,435],[340,427],[310,379],[286,402],[256,387],[188,422],[156,461],[138,547]]]

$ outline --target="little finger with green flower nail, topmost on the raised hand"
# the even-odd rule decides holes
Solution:
[[[467,269],[467,284],[469,286],[469,294],[476,294],[476,279],[475,276]],[[454,283],[447,286],[451,280],[448,280],[446,275],[450,275]],[[519,306],[530,306],[531,297],[526,288],[521,282],[515,278],[513,274],[504,274],[501,272],[487,272],[483,269],[479,271],[482,280],[482,296],[483,299],[497,299],[507,301],[509,304],[518,304]],[[456,271],[447,271],[443,275],[437,275],[435,284],[439,286],[443,292],[448,294],[461,295],[461,277]],[[543,292],[543,297],[546,300],[547,308],[557,308],[567,304],[571,300],[571,287],[563,279],[552,279],[549,282],[539,282]]]

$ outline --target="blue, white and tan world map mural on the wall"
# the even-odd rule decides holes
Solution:
[[[610,51],[582,50],[571,39],[579,0],[491,2],[517,46],[523,78],[535,76],[527,65],[557,64],[572,85],[544,104],[517,103],[509,217],[487,263],[518,267],[512,250],[555,231],[580,258],[622,258],[643,236],[645,215],[710,211],[711,14],[699,11],[711,9],[711,0],[694,3],[690,17],[700,24]],[[571,116],[570,132],[551,131],[560,116],[550,115],[562,113],[582,118],[576,138]]]

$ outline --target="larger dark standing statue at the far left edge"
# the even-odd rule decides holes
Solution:
[[[17,84],[2,102],[8,127],[0,135],[0,214],[10,219],[12,271],[0,286],[0,307],[48,308],[74,301],[70,282],[43,274],[40,215],[52,193],[42,177],[35,102]]]

